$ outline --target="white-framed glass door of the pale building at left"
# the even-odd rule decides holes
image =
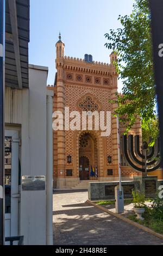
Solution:
[[[5,130],[5,237],[18,235],[18,131]]]

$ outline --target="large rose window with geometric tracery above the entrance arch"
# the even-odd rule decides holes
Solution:
[[[98,111],[99,106],[95,101],[92,100],[91,96],[86,96],[86,98],[79,103],[79,108],[81,108],[83,111],[86,111],[86,112],[89,112],[89,111],[94,112],[94,111]]]

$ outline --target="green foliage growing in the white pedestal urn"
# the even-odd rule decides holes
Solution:
[[[146,208],[146,204],[145,204],[145,193],[137,190],[137,188],[135,188],[135,190],[132,191],[133,194],[133,203],[134,203],[134,207],[135,208]]]

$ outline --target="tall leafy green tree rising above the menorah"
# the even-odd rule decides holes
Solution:
[[[148,0],[135,0],[131,15],[120,15],[118,20],[122,28],[105,34],[109,40],[105,46],[118,54],[115,65],[123,82],[123,96],[117,95],[114,101],[115,114],[126,124],[127,132],[137,117],[145,130],[147,124],[157,119]]]

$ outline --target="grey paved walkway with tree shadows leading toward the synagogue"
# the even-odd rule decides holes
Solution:
[[[85,203],[87,191],[53,195],[54,245],[163,245],[163,240]]]

